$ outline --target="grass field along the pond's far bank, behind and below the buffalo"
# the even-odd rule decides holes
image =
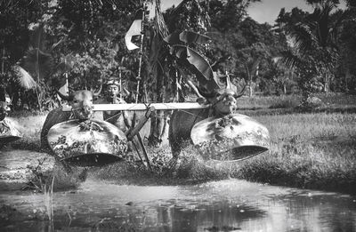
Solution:
[[[182,152],[180,163],[169,170],[170,148],[148,148],[154,172],[140,164],[121,163],[92,170],[106,180],[138,184],[177,184],[228,177],[297,188],[356,193],[356,97],[320,95],[326,110],[295,112],[298,96],[255,97],[239,100],[239,113],[254,117],[271,134],[271,149],[242,162],[206,164],[192,146]],[[277,107],[279,106],[279,108]],[[276,109],[277,108],[277,109]],[[328,109],[337,110],[328,110]],[[255,109],[255,110],[254,110]],[[256,110],[258,109],[258,110]],[[284,111],[283,109],[287,109]],[[354,112],[354,111],[353,111]],[[16,148],[34,148],[39,142],[43,115],[16,116],[25,130]],[[36,129],[29,125],[36,124]],[[26,127],[28,125],[28,127]]]

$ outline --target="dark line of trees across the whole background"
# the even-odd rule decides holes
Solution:
[[[340,9],[336,0],[308,0],[313,12],[281,9],[274,25],[248,17],[254,2],[183,0],[161,12],[159,0],[147,1],[156,7],[155,18],[146,12],[144,23],[140,101],[182,101],[191,92],[188,81],[201,73],[165,41],[182,31],[211,40],[185,40],[175,48],[197,52],[237,86],[247,85],[248,95],[355,92],[352,1]],[[121,78],[135,95],[139,52],[128,51],[124,37],[140,8],[139,0],[1,1],[0,87],[16,108],[58,106],[54,91],[67,81],[77,90]]]

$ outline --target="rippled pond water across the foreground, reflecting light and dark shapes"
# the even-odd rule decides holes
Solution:
[[[23,215],[41,195],[0,195]],[[86,181],[53,196],[59,231],[355,231],[352,196],[222,180],[195,186],[117,186]],[[44,220],[12,220],[1,231],[49,231]],[[1,228],[1,227],[0,227]]]

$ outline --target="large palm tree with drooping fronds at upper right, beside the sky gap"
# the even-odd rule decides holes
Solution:
[[[300,71],[312,68],[309,70],[311,75],[303,79],[302,85],[315,76],[323,76],[323,89],[328,92],[328,83],[338,59],[338,33],[345,12],[336,11],[336,0],[307,0],[307,3],[312,4],[314,12],[303,16],[298,23],[283,20],[283,15],[279,14],[277,21],[293,42],[291,49],[283,54],[284,62]],[[307,88],[306,85],[302,89]]]

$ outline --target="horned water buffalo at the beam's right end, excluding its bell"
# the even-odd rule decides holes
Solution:
[[[237,99],[243,95],[245,87],[237,93],[236,88],[232,88],[233,85],[229,84],[228,86],[231,87],[215,89],[208,94],[197,92],[200,93],[200,97],[204,97],[204,99],[199,98],[198,101],[204,100],[205,102],[202,103],[208,104],[209,108],[174,111],[168,131],[168,140],[174,162],[181,153],[183,146],[186,146],[185,141],[190,140],[190,132],[194,124],[210,116],[229,115],[237,108]]]

